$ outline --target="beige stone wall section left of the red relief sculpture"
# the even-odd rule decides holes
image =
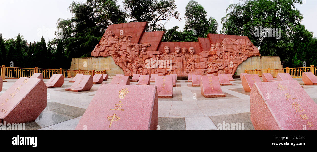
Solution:
[[[87,63],[87,64],[86,64]],[[116,74],[124,74],[120,66],[116,65],[112,57],[89,57],[89,58],[73,58],[70,70],[106,70],[108,76]]]

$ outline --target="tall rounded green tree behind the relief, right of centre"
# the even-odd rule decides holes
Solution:
[[[205,37],[205,33],[209,28],[207,20],[207,12],[204,7],[197,2],[191,0],[185,7],[185,27],[186,31],[197,31],[198,37]]]

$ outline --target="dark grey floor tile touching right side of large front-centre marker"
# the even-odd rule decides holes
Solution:
[[[159,118],[160,130],[186,130],[184,118]]]

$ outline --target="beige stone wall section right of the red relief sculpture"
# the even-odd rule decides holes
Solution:
[[[268,56],[253,56],[243,61],[236,70],[236,75],[244,73],[244,70],[254,69],[282,69],[280,57],[268,57]]]

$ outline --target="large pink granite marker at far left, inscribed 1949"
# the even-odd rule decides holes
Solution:
[[[7,123],[35,121],[47,103],[47,88],[42,79],[18,79],[0,96],[0,118]]]

